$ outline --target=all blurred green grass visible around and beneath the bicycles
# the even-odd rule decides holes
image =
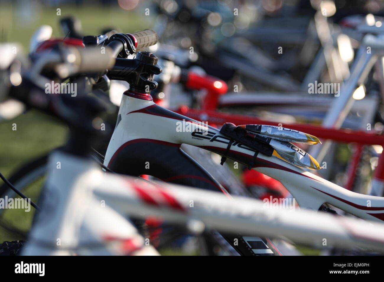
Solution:
[[[0,3],[0,41],[19,42],[25,52],[28,50],[29,40],[33,32],[43,24],[51,25],[53,36],[63,37],[58,25],[60,17],[72,15],[82,22],[83,30],[88,35],[99,35],[106,27],[119,28],[122,32],[134,32],[144,28],[151,28],[154,19],[138,12],[125,11],[118,6],[104,7],[97,5],[62,6],[61,16],[56,15],[56,7],[33,8],[28,15],[28,21],[22,18],[23,13],[13,5]],[[136,9],[137,10],[137,9]],[[144,18],[145,17],[145,18]],[[12,130],[16,124],[17,130]],[[25,162],[40,155],[44,155],[53,148],[65,142],[67,128],[48,115],[30,110],[15,119],[0,122],[0,172],[9,177],[12,172]],[[2,184],[2,183],[1,183]],[[43,179],[36,181],[26,191],[26,196],[37,201]],[[29,213],[22,209],[8,210],[4,213],[4,220],[18,228],[28,231],[31,226],[34,209]],[[0,242],[20,239],[0,227]],[[318,255],[319,251],[298,247],[306,255]],[[165,249],[162,255],[184,255],[185,253],[174,249]]]

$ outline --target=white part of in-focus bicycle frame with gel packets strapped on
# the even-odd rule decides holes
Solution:
[[[132,142],[160,142],[171,146],[185,143],[223,154],[230,140],[214,127],[175,114],[157,106],[153,101],[128,95],[122,97],[119,116],[121,120],[115,128],[106,152],[104,160],[106,166],[113,161],[121,148]],[[190,128],[193,125],[196,130],[178,132],[177,128],[180,128],[183,120],[184,129],[189,124]],[[228,157],[248,165],[247,162],[252,160],[254,154],[255,150],[242,144],[235,144],[230,147]],[[276,157],[266,157],[261,153],[257,155],[253,169],[280,181],[301,208],[318,210],[323,203],[329,203],[363,219],[384,220],[382,197],[348,191],[290,163]]]

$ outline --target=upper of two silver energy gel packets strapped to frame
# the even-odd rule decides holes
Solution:
[[[270,137],[280,141],[302,143],[308,145],[315,145],[317,143],[321,144],[320,140],[311,134],[306,134],[304,132],[285,127],[262,124],[239,125],[239,127],[247,130],[248,132],[253,132],[255,134]]]

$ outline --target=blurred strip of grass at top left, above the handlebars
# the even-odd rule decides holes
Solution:
[[[151,28],[154,15],[144,15],[144,8],[127,11],[118,6],[102,7],[98,5],[40,7],[30,9],[23,14],[14,5],[0,3],[0,41],[16,41],[28,50],[29,40],[36,28],[50,25],[53,36],[63,37],[59,21],[65,16],[75,16],[82,23],[86,35],[99,35],[106,27],[119,28],[121,32],[130,33],[145,28]],[[61,9],[61,15],[56,15],[56,8]],[[23,16],[24,15],[24,16]],[[24,20],[23,20],[24,18]]]

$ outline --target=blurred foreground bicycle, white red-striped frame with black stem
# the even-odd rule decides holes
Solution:
[[[70,51],[73,52],[73,50]],[[53,54],[55,52],[50,53],[51,58],[53,58]],[[104,64],[107,67],[111,63],[106,60],[105,55],[100,56],[99,53],[92,53],[90,50],[80,54],[82,61],[86,61],[92,71],[101,69],[99,61],[94,63],[96,58],[101,59],[104,56]],[[142,56],[144,55],[142,54]],[[88,59],[84,60],[84,56],[87,56]],[[63,57],[68,58],[68,56]],[[55,61],[62,65],[63,57],[56,56]],[[71,63],[77,61],[78,59],[71,60]],[[42,211],[36,218],[31,231],[29,246],[27,245],[23,251],[25,255],[63,255],[73,252],[78,254],[142,254],[143,239],[138,237],[135,229],[122,218],[120,214],[123,213],[123,209],[130,209],[130,213],[136,213],[137,216],[139,214],[143,216],[142,211],[144,210],[147,211],[144,216],[154,215],[161,211],[158,215],[163,215],[173,223],[187,221],[190,229],[197,233],[199,230],[201,231],[201,224],[191,221],[191,218],[201,219],[208,227],[227,232],[249,233],[260,228],[258,232],[262,234],[276,234],[278,231],[278,234],[296,238],[297,241],[307,244],[313,242],[313,236],[317,234],[315,238],[320,239],[320,237],[326,236],[331,244],[344,247],[349,244],[357,244],[361,247],[373,247],[384,251],[382,243],[377,243],[377,240],[384,240],[382,238],[383,226],[380,224],[370,225],[351,219],[341,220],[341,218],[314,214],[310,211],[300,211],[295,214],[279,210],[267,211],[257,200],[237,198],[236,203],[225,195],[218,195],[214,192],[169,184],[157,185],[147,181],[143,182],[143,180],[137,182],[132,178],[108,173],[104,175],[97,168],[96,163],[86,157],[93,135],[96,134],[91,121],[103,110],[103,102],[99,99],[79,96],[76,98],[76,102],[72,100],[72,103],[69,104],[70,107],[66,107],[66,103],[63,103],[65,97],[48,96],[43,91],[41,84],[36,85],[36,76],[28,78],[23,75],[22,77],[22,84],[12,87],[11,95],[29,103],[30,106],[59,117],[69,123],[73,129],[65,149],[57,150],[50,156],[50,173],[45,185],[45,195],[50,195],[50,197],[43,200]],[[41,98],[45,99],[33,101],[28,99],[31,94],[41,95]],[[60,101],[60,99],[64,100]],[[76,142],[80,140],[81,142]],[[56,162],[59,159],[62,162],[61,170],[56,168]],[[164,189],[162,186],[166,188]],[[106,187],[109,187],[109,192],[106,191]],[[138,195],[141,199],[140,202],[137,201]],[[158,198],[159,195],[162,198]],[[136,203],[144,209],[139,212],[134,204],[127,204],[129,198],[132,203]],[[186,213],[185,207],[189,206],[191,198],[195,201],[196,209],[190,209]],[[101,208],[100,199],[104,199],[108,203],[112,200],[111,204],[114,205],[117,212],[109,206]],[[52,205],[49,200],[53,200],[55,204]],[[144,206],[142,201],[146,203]],[[257,218],[254,217],[255,215]],[[315,224],[314,218],[323,224]],[[348,228],[352,228],[353,233],[351,234],[348,228],[344,228],[341,222],[347,224]],[[256,224],[256,228],[253,224]],[[328,229],[326,226],[332,226],[332,228]],[[369,236],[362,238],[361,236],[364,231],[367,231],[367,228],[370,231]],[[305,236],[303,236],[303,230],[307,232]],[[60,239],[60,244],[57,244],[57,239]],[[258,241],[253,241],[253,238],[243,237],[242,239],[247,241],[249,248],[260,246]],[[150,252],[148,247],[145,249],[147,254],[156,254]]]

